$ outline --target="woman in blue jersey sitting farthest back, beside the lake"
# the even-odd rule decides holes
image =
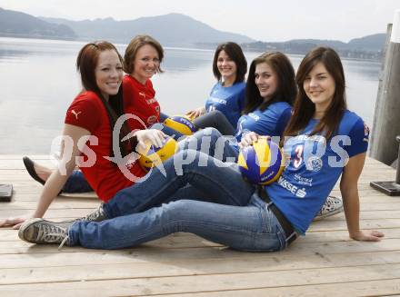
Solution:
[[[245,54],[239,45],[227,42],[217,46],[213,60],[217,83],[211,89],[205,106],[186,114],[197,128],[214,127],[221,134],[234,134],[245,106],[246,72]]]

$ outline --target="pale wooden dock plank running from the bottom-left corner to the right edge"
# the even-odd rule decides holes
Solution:
[[[245,272],[179,277],[137,278],[87,282],[50,282],[3,285],[2,294],[19,296],[72,294],[154,295],[160,293],[215,292],[337,282],[371,282],[400,278],[400,264],[323,268],[279,272]],[[206,285],[205,285],[206,284]]]

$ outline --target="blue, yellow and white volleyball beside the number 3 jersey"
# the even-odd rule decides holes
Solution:
[[[237,164],[249,183],[269,184],[277,181],[284,171],[285,156],[271,138],[260,137],[240,151]]]

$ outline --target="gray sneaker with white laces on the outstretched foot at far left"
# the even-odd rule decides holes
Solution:
[[[61,243],[68,240],[67,230],[71,223],[53,223],[35,218],[25,221],[18,231],[18,237],[28,243]]]

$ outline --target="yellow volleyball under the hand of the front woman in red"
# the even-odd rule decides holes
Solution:
[[[146,144],[145,150],[140,152],[139,163],[145,171],[158,166],[160,163],[172,157],[178,151],[178,144],[172,137],[166,137],[161,147],[155,148],[152,144]]]

